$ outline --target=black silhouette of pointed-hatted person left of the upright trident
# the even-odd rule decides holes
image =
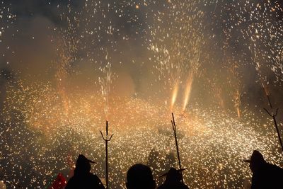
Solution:
[[[91,160],[82,154],[76,160],[74,176],[70,178],[65,189],[105,189],[98,176],[91,173]]]

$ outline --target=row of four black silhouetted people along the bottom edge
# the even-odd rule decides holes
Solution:
[[[250,159],[244,161],[250,165],[253,172],[251,189],[283,188],[283,168],[267,163],[259,151],[253,151]],[[76,161],[74,176],[69,179],[65,189],[105,189],[98,176],[90,172],[91,163],[95,162],[80,154]],[[164,183],[157,186],[149,166],[134,164],[127,171],[125,185],[127,189],[188,189],[189,187],[183,183],[181,171],[183,170],[171,167],[162,175],[166,176]]]

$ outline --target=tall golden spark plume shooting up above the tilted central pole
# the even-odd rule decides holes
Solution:
[[[183,12],[184,9],[187,12]],[[203,16],[200,2],[168,1],[163,10],[154,13],[154,21],[149,25],[150,50],[156,58],[158,79],[163,81],[165,89],[172,90],[171,108],[177,98],[179,82],[183,83],[188,73],[197,72],[200,67]]]

